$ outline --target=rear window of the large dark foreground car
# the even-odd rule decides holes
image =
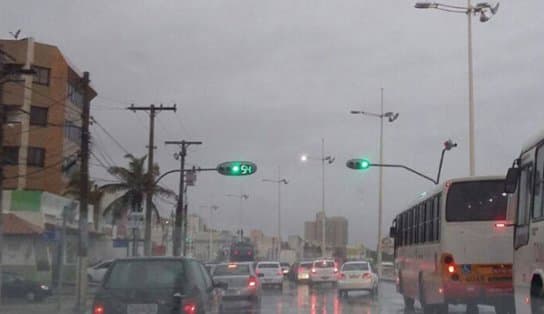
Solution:
[[[185,281],[183,261],[134,260],[117,261],[104,282],[110,289],[176,288]]]

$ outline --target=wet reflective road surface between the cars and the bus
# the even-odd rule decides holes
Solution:
[[[257,313],[243,304],[230,304],[227,313]],[[350,292],[339,298],[331,285],[309,287],[285,283],[283,292],[276,289],[263,291],[260,312],[262,314],[308,313],[308,314],[404,314],[402,297],[395,291],[393,283],[382,282],[380,295],[372,297],[366,292]],[[417,314],[422,313],[416,302]],[[465,313],[464,306],[449,307],[449,313]],[[495,313],[492,307],[480,307],[480,314]]]

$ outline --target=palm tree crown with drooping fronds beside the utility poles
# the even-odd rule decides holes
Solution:
[[[125,155],[125,158],[128,159],[128,167],[118,167],[113,166],[108,169],[108,172],[116,177],[119,181],[115,183],[106,184],[100,187],[102,192],[107,193],[120,193],[120,196],[117,197],[113,202],[111,202],[102,213],[102,216],[107,216],[112,214],[113,221],[115,221],[124,215],[127,214],[129,209],[142,211],[142,203],[144,197],[148,195],[148,183],[149,177],[147,176],[147,171],[145,169],[145,161],[147,156],[141,158],[136,158],[131,154]],[[161,196],[165,198],[175,197],[176,194],[164,187],[154,184],[156,178],[159,176],[159,166],[155,164],[153,166],[151,186],[153,189],[149,193],[149,197],[153,198],[154,196]],[[153,212],[157,221],[160,219],[160,214],[155,203],[152,203]],[[151,217],[146,217],[151,219]]]

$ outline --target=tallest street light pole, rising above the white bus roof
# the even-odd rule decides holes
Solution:
[[[436,2],[417,2],[416,9],[437,9],[446,12],[464,13],[467,15],[468,31],[468,146],[469,146],[469,174],[476,174],[476,160],[474,152],[474,77],[472,69],[472,15],[479,14],[480,22],[487,22],[499,9],[499,4],[491,6],[487,2],[473,6],[471,0],[467,0],[467,6],[448,5]]]

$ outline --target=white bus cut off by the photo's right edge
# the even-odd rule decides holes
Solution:
[[[544,134],[523,146],[506,176],[514,223],[517,313],[544,313]]]

